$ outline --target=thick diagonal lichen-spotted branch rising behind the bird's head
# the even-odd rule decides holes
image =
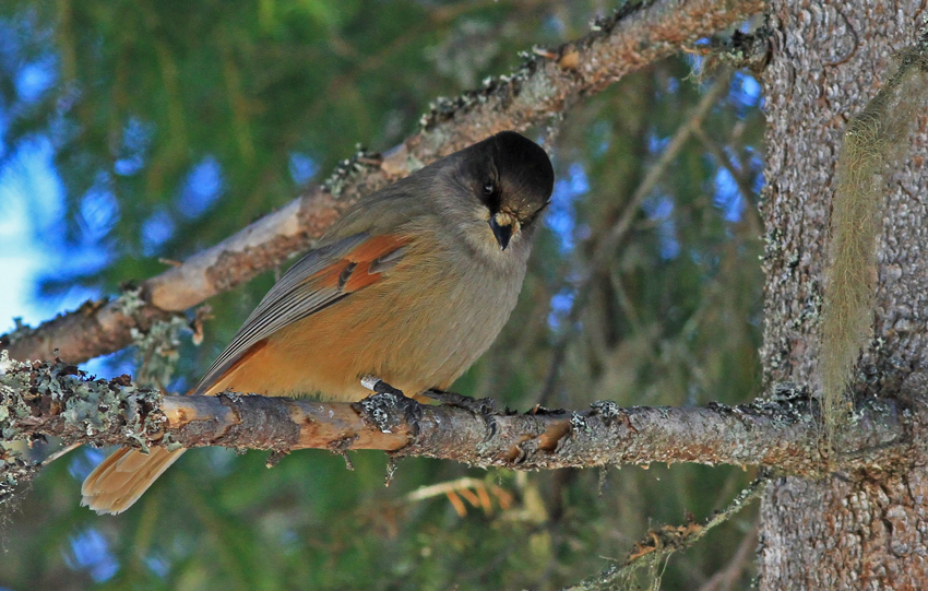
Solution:
[[[281,265],[306,250],[358,197],[441,156],[504,129],[544,123],[623,75],[681,47],[737,25],[763,10],[763,0],[655,0],[597,21],[581,39],[537,50],[510,75],[489,79],[456,98],[440,98],[423,117],[423,129],[380,154],[356,154],[322,187],[310,189],[218,245],[142,284],[134,296],[88,303],[81,309],[0,338],[16,359],[58,356],[81,363],[131,343],[170,312]]]

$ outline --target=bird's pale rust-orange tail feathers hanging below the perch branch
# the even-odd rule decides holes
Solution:
[[[98,513],[121,513],[176,462],[186,449],[152,448],[150,453],[121,448],[91,472],[81,487],[81,501]]]

